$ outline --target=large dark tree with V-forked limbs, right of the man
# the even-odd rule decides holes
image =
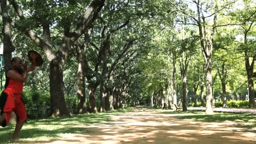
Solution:
[[[3,8],[6,7],[4,2],[6,1],[1,1]],[[64,62],[69,56],[69,53],[77,39],[83,35],[84,32],[91,27],[93,21],[95,21],[96,16],[104,5],[104,0],[93,0],[86,11],[79,11],[79,7],[77,6],[79,5],[78,3],[69,3],[68,1],[63,3],[44,3],[43,1],[37,0],[36,3],[27,3],[26,1],[21,0],[20,3],[21,5],[25,5],[24,8],[32,8],[33,13],[31,13],[30,16],[24,15],[24,11],[21,10],[21,7],[15,0],[10,0],[10,3],[20,20],[17,20],[19,23],[14,21],[15,16],[9,16],[8,13],[5,13],[5,19],[8,18],[7,21],[8,23],[11,23],[12,27],[18,29],[22,34],[27,35],[30,40],[40,47],[44,51],[47,60],[50,62],[49,78],[52,116],[69,115],[63,91]],[[83,4],[87,5],[88,3],[85,2]],[[67,8],[64,9],[64,11],[59,11],[59,8],[64,8],[65,5],[68,5]],[[66,15],[70,8],[75,8],[76,12],[74,15],[78,16],[78,14],[80,14],[78,19],[76,19],[76,17],[72,17],[71,14]],[[62,15],[63,17],[59,18],[58,15]],[[64,35],[56,52],[54,52],[54,48],[57,45],[53,45],[51,36],[51,26],[55,22],[58,24],[56,28],[61,27],[64,29]],[[28,23],[34,25],[27,27]],[[75,27],[75,25],[77,26]],[[41,32],[40,28],[43,28],[43,32]],[[35,29],[37,29],[43,37],[37,35]],[[71,30],[73,30],[73,32],[70,32]],[[10,40],[8,40],[8,42],[10,42]],[[7,45],[7,47],[9,46]]]

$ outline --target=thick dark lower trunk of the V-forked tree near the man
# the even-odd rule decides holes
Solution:
[[[55,116],[68,116],[69,112],[64,98],[63,90],[63,69],[57,58],[50,63],[50,93],[51,93],[51,113]]]

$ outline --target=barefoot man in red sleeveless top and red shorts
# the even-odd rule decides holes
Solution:
[[[18,133],[27,119],[24,101],[21,98],[23,83],[27,80],[28,72],[33,71],[36,66],[32,64],[31,67],[27,67],[27,62],[23,63],[19,57],[14,57],[11,60],[11,65],[12,69],[6,73],[5,89],[0,96],[0,125],[5,127],[11,119],[11,113],[15,112],[17,123],[12,139],[17,139]]]

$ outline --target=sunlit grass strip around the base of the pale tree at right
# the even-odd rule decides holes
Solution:
[[[236,122],[237,126],[255,128],[256,127],[256,115],[249,113],[223,113],[216,112],[214,115],[205,115],[205,112],[201,111],[173,111],[173,112],[162,112],[163,114],[187,114],[177,116],[179,119],[195,120],[202,122],[225,122],[232,121]]]

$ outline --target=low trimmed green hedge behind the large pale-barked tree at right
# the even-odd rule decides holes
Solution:
[[[215,107],[222,107],[222,101],[215,102]],[[243,108],[249,107],[249,101],[227,101],[227,107]]]

